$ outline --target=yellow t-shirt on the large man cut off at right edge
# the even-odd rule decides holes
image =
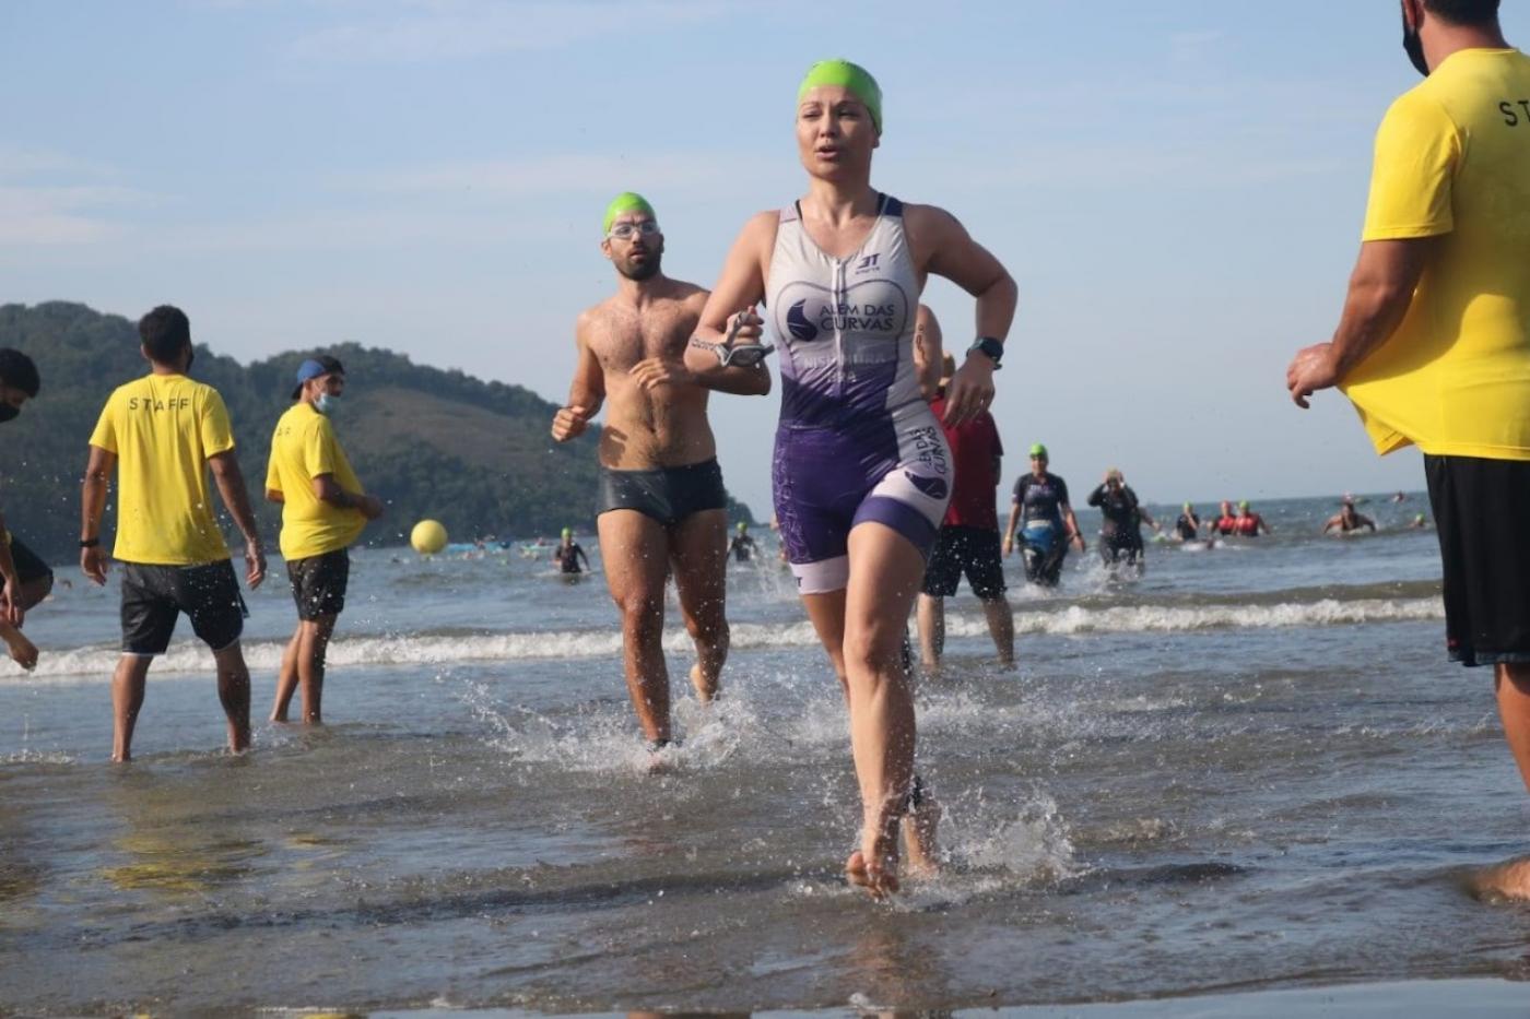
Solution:
[[[1379,453],[1530,461],[1530,57],[1464,49],[1375,136],[1365,240],[1434,237],[1397,332],[1343,379]]]

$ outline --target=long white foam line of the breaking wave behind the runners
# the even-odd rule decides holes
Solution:
[[[1212,629],[1270,629],[1300,626],[1353,626],[1360,623],[1395,623],[1444,618],[1438,598],[1359,598],[1320,601],[1285,601],[1278,604],[1207,604],[1207,606],[1066,606],[1054,610],[1014,614],[1019,633],[1141,633],[1195,632]],[[987,623],[981,617],[952,614],[947,632],[955,636],[985,636]],[[809,623],[734,623],[734,649],[814,647],[819,638]],[[690,653],[690,638],[682,629],[664,635],[664,647],[675,653]],[[282,641],[251,641],[245,644],[245,659],[251,669],[275,670],[282,664]],[[476,661],[583,659],[610,658],[621,653],[621,633],[615,629],[562,630],[546,633],[471,633],[471,635],[386,635],[341,636],[329,646],[329,664],[347,666],[444,666]],[[0,666],[0,682],[35,682],[38,679],[107,678],[116,666],[115,647],[78,647],[72,650],[44,649],[37,672],[28,675],[18,667]],[[205,673],[213,656],[196,641],[181,641],[155,663],[155,673]]]

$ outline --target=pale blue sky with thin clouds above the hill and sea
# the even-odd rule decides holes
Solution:
[[[606,200],[647,194],[666,271],[710,286],[802,191],[796,83],[842,55],[883,86],[875,184],[1019,283],[1008,468],[1045,441],[1076,487],[1118,465],[1155,500],[1414,490],[1417,453],[1284,390],[1417,81],[1398,40],[1389,0],[11,0],[0,301],[173,301],[240,360],[356,340],[562,401],[574,317],[612,289]],[[970,298],[926,300],[965,346]],[[759,513],[774,416],[713,401]]]

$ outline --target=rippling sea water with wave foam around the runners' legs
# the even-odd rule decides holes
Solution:
[[[61,569],[28,623],[41,667],[0,669],[0,1011],[950,1010],[1527,976],[1530,913],[1466,878],[1525,849],[1530,797],[1490,673],[1444,658],[1435,536],[1403,529],[1423,508],[1323,539],[1333,500],[1271,502],[1271,537],[1151,545],[1135,581],[1091,549],[1054,592],[1011,560],[1014,672],[950,600],[946,678],[918,695],[946,866],[884,904],[840,877],[845,708],[770,557],[730,565],[710,708],[672,601],[685,742],[661,774],[598,572],[358,552],[327,727],[259,722],[223,754],[182,624],[115,767],[116,592]],[[257,718],[294,618],[278,575],[249,598]]]

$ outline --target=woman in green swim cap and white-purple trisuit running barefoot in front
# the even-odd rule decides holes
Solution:
[[[883,119],[864,69],[814,64],[797,90],[796,129],[808,193],[745,223],[685,367],[715,389],[745,389],[728,376],[737,363],[724,361],[759,350],[763,320],[753,312],[763,301],[780,344],[776,516],[849,702],[863,828],[846,872],[881,897],[898,887],[900,828],[910,866],[933,866],[939,814],[913,776],[913,699],[900,655],[952,491],[946,436],[913,364],[920,292],[935,272],[978,298],[978,340],[946,395],[946,421],[958,425],[993,401],[1014,282],[950,213],[871,185]],[[725,330],[731,343],[719,343]]]

